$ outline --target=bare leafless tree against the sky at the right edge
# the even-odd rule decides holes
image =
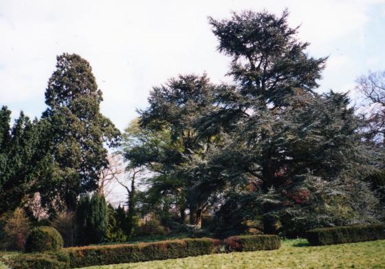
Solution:
[[[356,87],[369,100],[366,133],[371,140],[384,145],[385,139],[385,72],[369,72],[357,80]]]

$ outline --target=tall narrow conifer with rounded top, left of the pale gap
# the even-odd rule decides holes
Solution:
[[[107,166],[103,144],[114,146],[120,138],[120,131],[100,113],[101,101],[89,63],[77,54],[58,56],[45,92],[45,140],[54,172],[41,186],[43,201],[59,197],[67,209],[75,210],[78,195],[97,188],[100,171]]]

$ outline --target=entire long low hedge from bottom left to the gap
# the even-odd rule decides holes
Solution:
[[[226,252],[273,250],[281,246],[276,235],[243,235],[225,239]],[[132,263],[223,252],[221,241],[210,238],[179,239],[153,243],[83,246],[53,253],[21,254],[10,263],[13,269],[67,269]]]

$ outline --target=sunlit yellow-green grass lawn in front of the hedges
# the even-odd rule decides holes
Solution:
[[[87,267],[120,268],[385,268],[385,240],[331,246],[309,246],[306,239],[285,240],[278,250]]]

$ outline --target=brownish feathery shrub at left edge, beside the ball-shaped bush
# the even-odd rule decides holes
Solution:
[[[22,208],[17,208],[11,215],[3,219],[3,235],[1,248],[7,250],[24,250],[25,240],[30,233],[30,220]]]

